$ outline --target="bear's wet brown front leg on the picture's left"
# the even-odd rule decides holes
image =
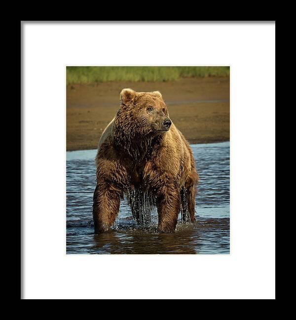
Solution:
[[[93,198],[95,234],[110,230],[119,211],[120,195],[112,183],[98,181]]]

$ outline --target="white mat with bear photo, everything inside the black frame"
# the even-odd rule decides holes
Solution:
[[[275,299],[275,21],[20,24],[21,299]]]

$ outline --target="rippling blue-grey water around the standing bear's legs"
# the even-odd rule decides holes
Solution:
[[[229,142],[191,145],[200,176],[196,195],[196,223],[182,223],[176,232],[139,227],[126,202],[109,233],[94,235],[92,197],[96,186],[96,150],[67,152],[67,253],[228,254]]]

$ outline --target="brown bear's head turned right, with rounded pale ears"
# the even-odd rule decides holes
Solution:
[[[136,92],[123,89],[117,113],[124,131],[134,136],[161,135],[170,129],[172,121],[159,91]]]

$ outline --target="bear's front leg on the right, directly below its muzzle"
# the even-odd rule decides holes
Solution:
[[[180,190],[174,185],[161,188],[158,197],[158,231],[173,232],[180,212]]]

